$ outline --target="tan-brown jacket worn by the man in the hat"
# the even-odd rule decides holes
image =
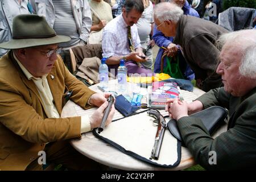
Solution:
[[[84,109],[95,93],[73,76],[61,60],[47,76],[58,113],[65,87],[73,90],[71,100]],[[47,142],[81,137],[81,117],[47,118],[32,80],[14,60],[13,51],[0,59],[0,170],[24,170]]]

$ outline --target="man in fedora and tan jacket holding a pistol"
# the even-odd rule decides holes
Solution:
[[[69,40],[56,35],[43,16],[27,14],[14,18],[13,40],[0,44],[11,49],[0,59],[0,170],[42,169],[40,151],[46,152],[47,163],[100,169],[66,141],[100,126],[109,97],[87,88],[65,67],[57,44]],[[91,117],[60,118],[67,90],[82,108],[99,108]],[[113,115],[114,107],[107,125]]]

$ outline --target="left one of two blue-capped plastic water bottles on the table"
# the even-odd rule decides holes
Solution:
[[[106,59],[106,57],[103,57],[101,59],[101,65],[99,67],[100,87],[104,90],[108,88],[109,83],[109,68],[108,65],[106,65]]]

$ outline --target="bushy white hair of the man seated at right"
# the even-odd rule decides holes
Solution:
[[[223,34],[217,40],[217,46],[233,46],[241,51],[239,72],[247,78],[256,78],[256,29],[247,29]]]

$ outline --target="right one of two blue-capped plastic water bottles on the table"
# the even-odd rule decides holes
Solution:
[[[125,60],[120,60],[120,65],[117,69],[118,92],[124,92],[127,86],[127,68],[125,67]]]

